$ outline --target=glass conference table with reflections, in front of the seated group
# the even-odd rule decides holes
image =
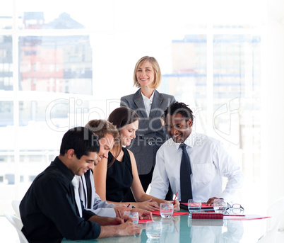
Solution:
[[[183,210],[181,210],[183,211]],[[185,211],[184,211],[185,212]],[[105,239],[89,239],[62,242],[123,242],[123,243],[219,243],[219,242],[258,242],[259,238],[266,232],[266,223],[270,219],[261,220],[199,220],[191,219],[188,215],[172,217],[171,220],[162,219],[160,216],[153,216],[154,221],[162,220],[162,234],[160,239],[150,240],[146,236],[145,224],[139,224],[143,229],[141,235],[128,237],[111,237]]]

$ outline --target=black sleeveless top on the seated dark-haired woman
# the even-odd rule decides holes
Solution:
[[[125,147],[122,147],[122,150],[124,152],[122,162],[116,159],[114,164],[107,168],[106,198],[114,202],[122,201],[133,181],[129,152]],[[107,165],[112,162],[112,158],[113,155],[109,152]]]

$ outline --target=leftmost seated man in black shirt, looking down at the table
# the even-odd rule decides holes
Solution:
[[[28,242],[140,233],[140,227],[131,221],[124,223],[119,217],[100,217],[84,210],[81,202],[76,204],[74,175],[82,176],[93,169],[99,149],[97,137],[88,128],[73,128],[65,133],[60,155],[32,182],[20,203],[22,231]]]

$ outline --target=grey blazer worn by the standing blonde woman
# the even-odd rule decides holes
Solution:
[[[121,98],[120,106],[136,111],[140,116],[136,138],[128,149],[134,153],[138,174],[148,174],[155,166],[155,156],[160,146],[167,140],[167,132],[160,122],[165,109],[175,102],[174,96],[160,94],[155,90],[149,117],[146,113],[141,89],[135,94]]]

